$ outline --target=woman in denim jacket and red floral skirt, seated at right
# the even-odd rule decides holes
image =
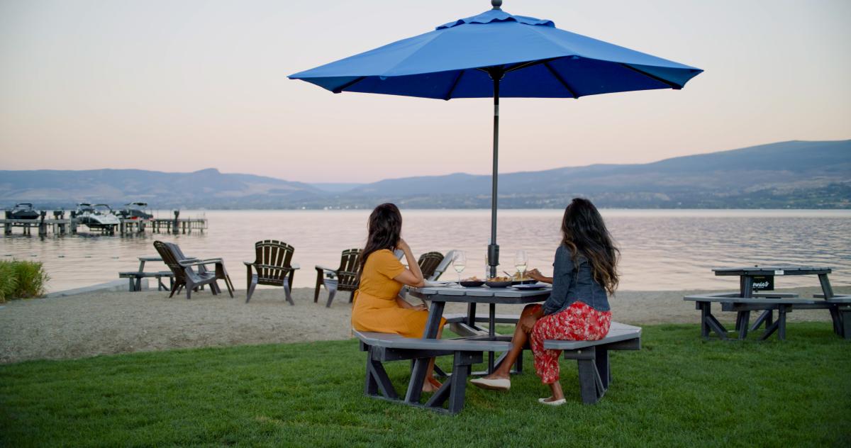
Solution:
[[[597,207],[587,199],[575,198],[564,209],[562,244],[556,250],[552,277],[537,269],[528,274],[537,281],[552,283],[550,298],[543,305],[528,305],[520,315],[511,351],[494,373],[471,380],[480,388],[508,390],[509,372],[527,341],[534,354],[534,368],[541,382],[552,390],[545,405],[564,404],[558,383],[558,356],[561,350],[544,349],[546,339],[593,341],[606,337],[612,322],[608,294],[618,286],[617,263],[620,252],[614,247]]]

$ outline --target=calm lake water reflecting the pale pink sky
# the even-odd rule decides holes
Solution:
[[[514,270],[518,249],[528,267],[551,273],[560,241],[559,210],[504,210],[499,214],[500,270]],[[716,266],[814,264],[834,268],[835,286],[851,285],[851,211],[849,210],[603,210],[620,246],[621,289],[681,290],[738,288],[738,279],[715,277]],[[168,216],[168,212],[158,213]],[[203,234],[15,235],[0,237],[0,259],[43,262],[50,291],[117,280],[118,271],[135,270],[137,257],[156,255],[157,239],[174,241],[200,258],[225,259],[231,279],[245,287],[243,261],[254,259],[254,241],[276,239],[295,247],[301,265],[295,286],[313,286],[323,264],[337,266],[340,251],[363,247],[368,211],[183,211],[181,218],[208,218]],[[467,254],[464,276],[484,274],[490,235],[488,210],[403,211],[403,237],[414,254],[461,249]],[[166,270],[150,264],[148,270]],[[453,269],[444,280],[456,278]],[[782,286],[817,286],[815,277],[785,277]]]

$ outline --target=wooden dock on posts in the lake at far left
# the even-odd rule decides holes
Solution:
[[[14,219],[0,218],[0,226],[3,227],[3,235],[12,235],[14,229],[23,231],[23,235],[32,235],[32,229],[37,230],[39,236],[53,235],[76,235],[80,227],[85,227],[89,233],[100,233],[102,235],[138,235],[151,231],[153,233],[191,234],[193,231],[203,233],[207,230],[207,218],[151,218],[151,219],[119,219],[119,224],[93,229],[71,216],[65,218],[64,212],[54,212],[53,218],[47,218],[47,213],[42,213],[41,218],[36,219]]]

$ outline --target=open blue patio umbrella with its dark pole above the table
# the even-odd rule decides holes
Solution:
[[[701,70],[556,28],[551,20],[490,9],[343,60],[290,75],[334,94],[494,99],[490,275],[496,275],[500,97],[572,98],[680,89]]]

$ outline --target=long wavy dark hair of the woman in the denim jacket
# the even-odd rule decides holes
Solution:
[[[614,294],[620,280],[617,269],[620,250],[614,247],[612,235],[591,201],[576,197],[564,209],[562,244],[572,252],[574,264],[577,254],[588,258],[594,280]]]

